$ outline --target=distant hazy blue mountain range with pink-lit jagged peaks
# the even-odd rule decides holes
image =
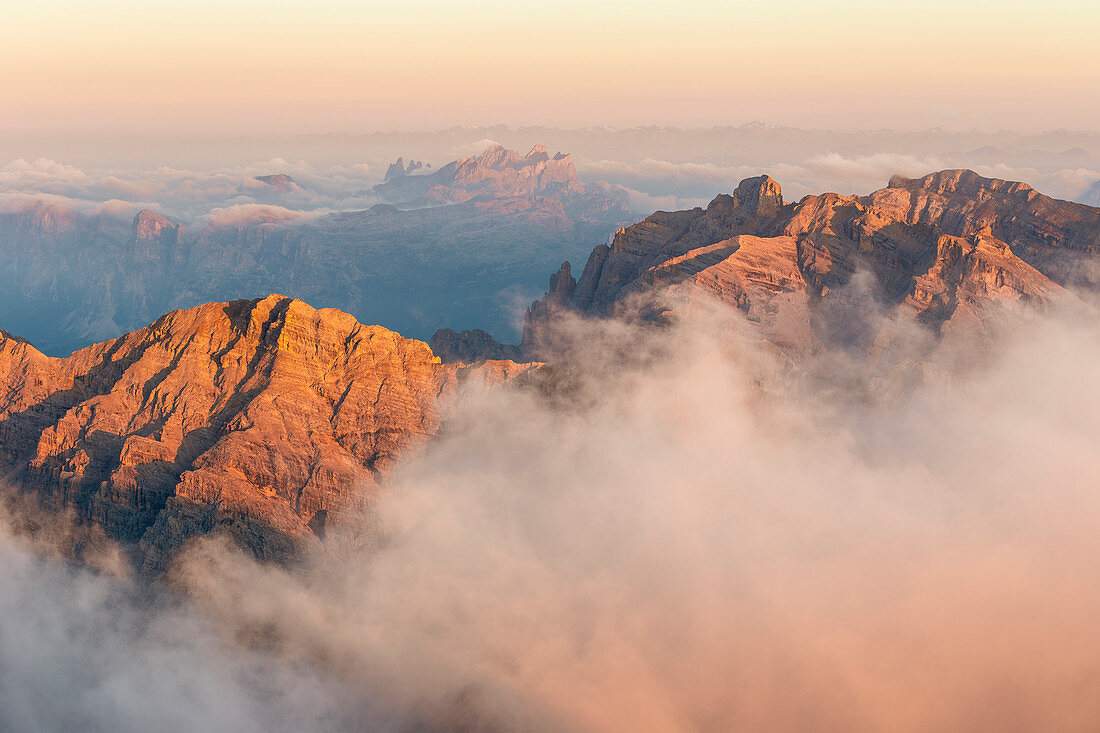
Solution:
[[[464,193],[416,210],[254,207],[190,230],[151,210],[128,221],[44,201],[11,209],[0,214],[3,326],[64,355],[174,308],[282,292],[410,336],[480,327],[504,338],[517,297],[629,218],[585,193],[568,158],[490,151],[447,168]],[[258,180],[300,189],[286,175]]]

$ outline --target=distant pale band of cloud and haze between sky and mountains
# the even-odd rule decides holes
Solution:
[[[779,180],[790,200],[824,192],[867,194],[884,186],[894,174],[972,168],[986,176],[1024,180],[1050,196],[1094,204],[1100,200],[1097,140],[1091,133],[1066,131],[1020,135],[943,130],[845,133],[766,124],[694,130],[496,125],[190,141],[183,147],[164,142],[121,165],[119,161],[134,161],[132,146],[113,150],[103,143],[94,146],[95,154],[80,145],[15,153],[24,157],[0,166],[0,201],[53,197],[87,210],[113,199],[129,203],[134,210],[152,208],[189,226],[213,209],[234,206],[359,210],[380,201],[373,186],[398,155],[421,160],[436,169],[499,142],[520,152],[535,143],[571,152],[584,183],[617,187],[639,216],[658,208],[705,204],[732,190],[741,178],[761,173]],[[12,149],[16,150],[22,149]],[[40,156],[41,152],[47,155]],[[160,164],[169,160],[172,165]],[[73,165],[75,161],[80,165]],[[277,190],[255,178],[273,174],[292,176],[298,187]]]

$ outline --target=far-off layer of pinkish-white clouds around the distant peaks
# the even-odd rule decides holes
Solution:
[[[496,144],[475,129],[465,132],[469,140],[455,138],[455,131],[404,143],[385,136],[366,139],[362,145],[349,143],[341,149],[344,162],[338,163],[332,162],[334,153],[322,153],[320,149],[302,149],[307,155],[302,158],[272,157],[229,167],[199,164],[205,158],[197,153],[191,167],[120,168],[103,162],[76,166],[48,157],[15,158],[0,165],[0,210],[35,200],[120,217],[150,208],[191,227],[290,221],[361,210],[381,203],[373,187],[382,182],[387,162],[396,154],[432,163],[435,167],[417,172],[424,175]],[[910,136],[868,133],[865,143],[855,144],[838,134],[822,136],[825,133],[820,131],[746,128],[724,131],[710,147],[705,143],[707,135],[717,134],[714,131],[666,131],[656,140],[649,140],[651,134],[646,129],[586,133],[540,129],[528,133],[547,140],[528,139],[521,134],[524,131],[498,132],[507,133],[498,135],[504,144],[520,152],[536,142],[579,145],[573,158],[582,180],[608,184],[639,217],[656,209],[705,206],[716,194],[732,190],[740,179],[761,173],[780,182],[788,200],[824,192],[868,194],[886,186],[894,174],[922,176],[944,168],[971,168],[985,176],[1024,180],[1057,198],[1100,205],[1100,153],[1084,149],[1021,152],[985,145],[969,152],[961,149],[933,154],[927,149],[937,140],[934,132]],[[639,135],[642,139],[635,141]],[[756,147],[751,135],[763,135]],[[561,140],[556,141],[556,136]],[[1004,142],[996,135],[987,138]],[[978,145],[982,140],[979,135],[943,144]],[[647,147],[654,151],[654,156],[639,157],[637,151]],[[349,150],[367,162],[349,161]],[[277,192],[256,179],[274,174],[292,176],[297,186]]]

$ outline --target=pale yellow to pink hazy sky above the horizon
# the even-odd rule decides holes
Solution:
[[[1100,128],[1091,0],[6,0],[0,130]]]

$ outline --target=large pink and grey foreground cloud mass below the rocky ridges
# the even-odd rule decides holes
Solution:
[[[211,538],[179,595],[0,535],[0,727],[1093,730],[1094,313],[890,369],[721,308],[565,333],[550,389],[469,387],[371,549]]]

